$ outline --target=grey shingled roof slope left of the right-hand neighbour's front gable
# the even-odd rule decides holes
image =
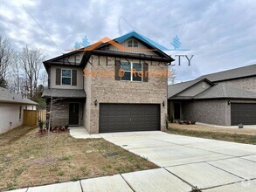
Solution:
[[[170,99],[172,97],[175,97],[176,94],[182,93],[186,89],[190,88],[191,86],[196,85],[197,83],[199,83],[201,81],[206,81],[211,86],[214,85],[208,79],[195,79],[195,80],[190,80],[190,81],[186,81],[186,82],[182,82],[182,83],[177,83],[177,84],[169,85],[168,86],[168,99]],[[183,99],[185,99],[185,98],[183,98]]]

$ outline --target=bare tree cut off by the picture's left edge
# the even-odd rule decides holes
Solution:
[[[0,86],[7,86],[7,72],[11,64],[12,49],[8,38],[0,35]]]

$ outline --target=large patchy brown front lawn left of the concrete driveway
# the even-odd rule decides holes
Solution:
[[[0,190],[76,181],[157,168],[146,159],[103,139],[74,139],[68,133],[38,136],[18,127],[0,134]]]

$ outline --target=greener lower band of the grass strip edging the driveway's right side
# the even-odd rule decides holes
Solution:
[[[217,132],[216,130],[207,131],[204,129],[190,129],[188,128],[178,128],[178,127],[169,127],[166,131],[169,134],[181,134],[192,137],[200,137],[205,139],[219,140],[219,141],[232,141],[246,144],[256,145],[256,136],[248,135],[248,134],[238,134],[238,133],[225,133],[225,132]]]

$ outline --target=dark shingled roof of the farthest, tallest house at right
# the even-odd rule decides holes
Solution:
[[[236,69],[226,70],[224,72],[215,72],[208,75],[203,75],[197,79],[207,78],[212,82],[224,81],[227,79],[239,79],[245,77],[256,76],[256,64],[239,67]]]

